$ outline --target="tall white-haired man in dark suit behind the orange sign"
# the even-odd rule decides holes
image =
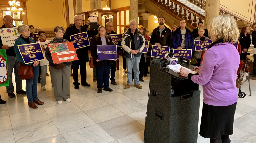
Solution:
[[[70,26],[66,30],[66,39],[70,42],[70,36],[82,32],[86,32],[86,27],[82,26],[81,16],[74,16],[74,25]],[[73,69],[73,79],[74,79],[74,88],[79,89],[80,83],[78,82],[78,68],[80,66],[80,75],[81,75],[81,85],[90,87],[91,85],[86,82],[86,63],[89,61],[88,57],[88,47],[75,49],[78,60],[72,61]]]

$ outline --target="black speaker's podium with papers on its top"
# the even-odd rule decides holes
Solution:
[[[196,143],[199,85],[151,60],[145,143]],[[193,66],[184,64],[186,68]],[[171,94],[171,88],[174,94]]]

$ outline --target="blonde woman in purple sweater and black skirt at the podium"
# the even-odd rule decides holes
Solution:
[[[181,68],[181,76],[203,85],[203,111],[199,134],[211,143],[230,143],[238,100],[236,88],[240,56],[233,43],[238,41],[237,22],[229,15],[218,15],[209,25],[212,44],[204,54],[199,75]],[[228,58],[227,58],[228,57]]]

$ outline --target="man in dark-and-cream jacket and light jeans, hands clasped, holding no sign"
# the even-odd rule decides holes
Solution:
[[[134,82],[135,87],[141,89],[139,81],[139,63],[142,50],[145,47],[145,38],[143,34],[137,29],[137,24],[135,20],[129,22],[129,29],[123,34],[122,38],[122,48],[125,50],[125,60],[127,65],[127,85],[125,89],[131,87],[132,82],[132,68],[134,71]]]

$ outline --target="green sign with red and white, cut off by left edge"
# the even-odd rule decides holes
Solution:
[[[0,87],[9,86],[6,50],[0,50]]]

